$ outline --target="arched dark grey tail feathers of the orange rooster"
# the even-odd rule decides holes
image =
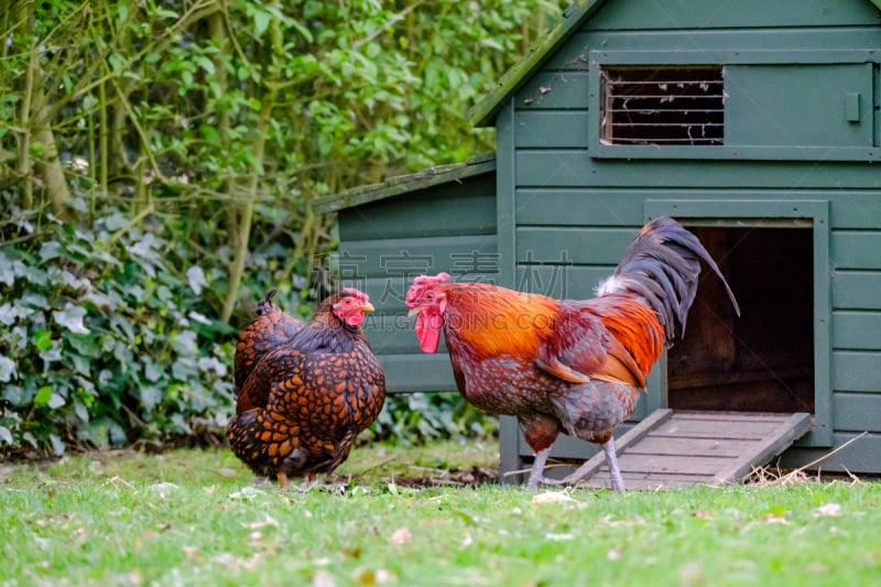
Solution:
[[[624,251],[612,276],[600,284],[598,295],[630,294],[648,303],[664,327],[666,345],[685,331],[688,308],[697,293],[700,259],[725,284],[735,312],[735,294],[716,261],[693,233],[673,218],[662,216],[645,225]]]

